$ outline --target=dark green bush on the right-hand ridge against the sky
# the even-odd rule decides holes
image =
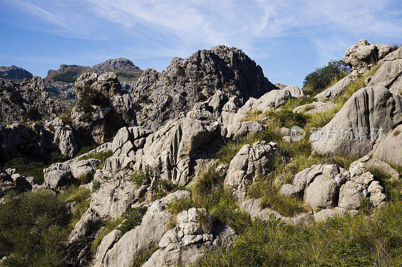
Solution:
[[[333,83],[334,79],[340,80],[345,77],[349,71],[350,68],[343,60],[331,60],[327,66],[317,68],[307,75],[303,82],[303,87],[309,93],[320,92]]]

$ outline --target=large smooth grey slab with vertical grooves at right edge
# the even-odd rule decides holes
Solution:
[[[310,136],[320,154],[359,157],[368,154],[402,122],[402,97],[385,87],[365,87],[354,93],[335,117]],[[317,129],[316,129],[317,130]]]

